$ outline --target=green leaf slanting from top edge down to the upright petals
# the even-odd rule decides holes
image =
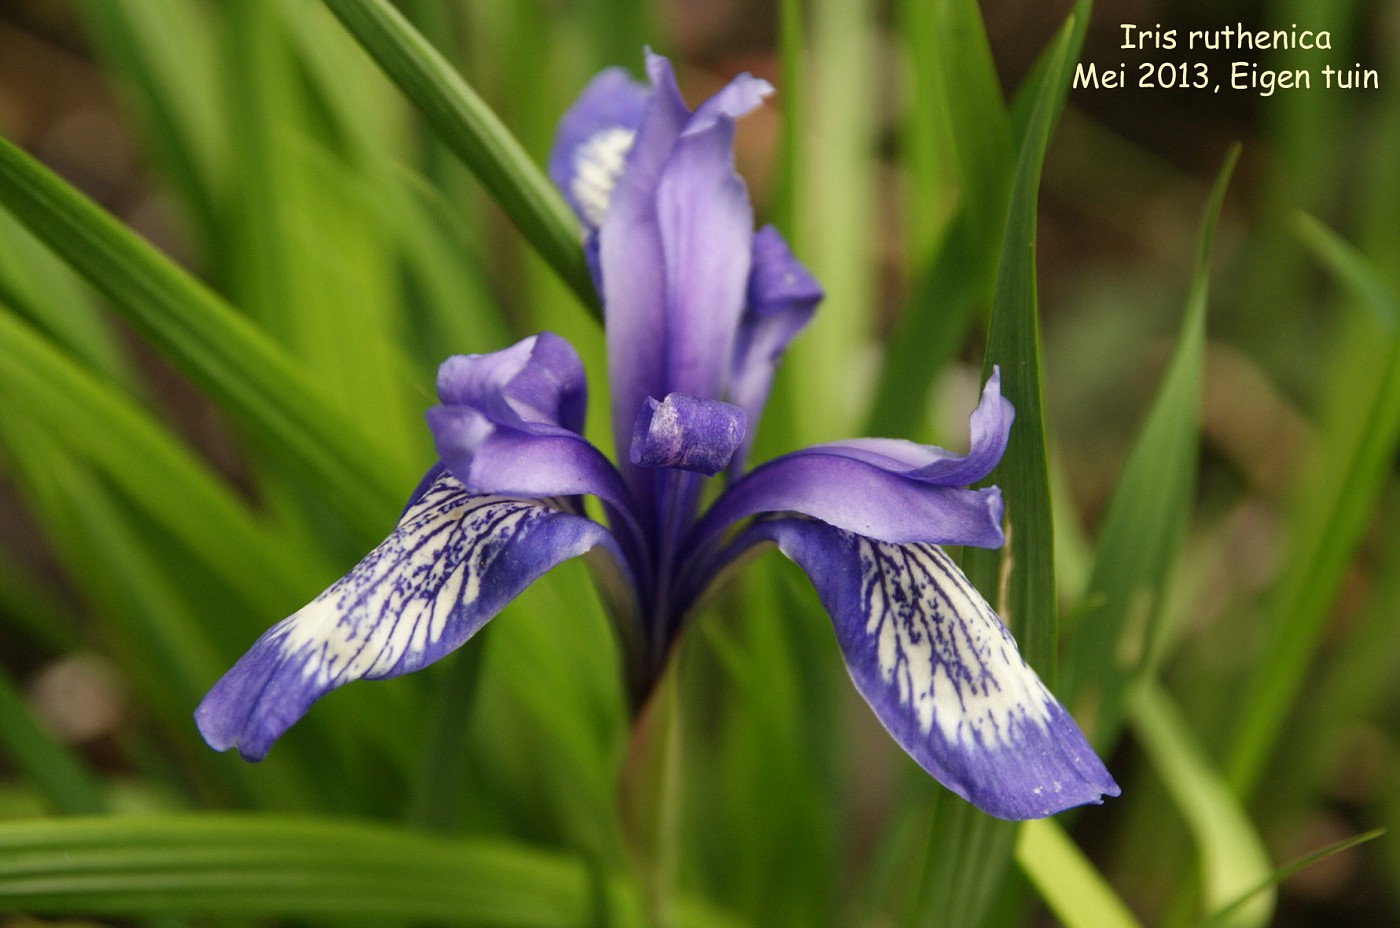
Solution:
[[[386,0],[325,3],[476,174],[539,255],[601,318],[578,221],[476,91]]]

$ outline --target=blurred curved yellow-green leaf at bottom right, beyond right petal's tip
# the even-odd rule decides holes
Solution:
[[[1155,680],[1140,684],[1130,711],[1142,750],[1196,840],[1205,911],[1231,906],[1221,922],[1229,928],[1268,924],[1274,894],[1260,887],[1271,885],[1274,868],[1245,809]],[[1249,901],[1235,907],[1242,897]]]

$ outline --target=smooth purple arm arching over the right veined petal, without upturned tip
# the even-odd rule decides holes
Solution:
[[[1005,540],[995,487],[930,484],[840,447],[816,447],[776,458],[731,484],[696,523],[687,550],[701,549],[745,516],[783,511],[897,544],[1000,547]]]

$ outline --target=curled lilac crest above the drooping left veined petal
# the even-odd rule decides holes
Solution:
[[[584,365],[574,347],[552,332],[490,354],[449,357],[438,368],[437,388],[442,403],[470,406],[500,426],[584,428]]]

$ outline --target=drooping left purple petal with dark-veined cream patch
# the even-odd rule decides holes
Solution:
[[[379,547],[258,638],[199,704],[199,731],[260,760],[321,696],[442,658],[545,571],[598,546],[623,563],[596,522],[440,474]]]

